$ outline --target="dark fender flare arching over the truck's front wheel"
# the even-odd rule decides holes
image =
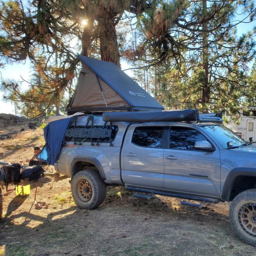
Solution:
[[[222,200],[230,201],[231,188],[233,187],[233,183],[235,179],[239,176],[248,176],[248,177],[256,177],[256,168],[234,168],[227,175],[223,189],[222,189]]]

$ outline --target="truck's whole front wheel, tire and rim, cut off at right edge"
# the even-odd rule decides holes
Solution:
[[[243,191],[233,199],[229,217],[238,236],[256,246],[256,189]]]

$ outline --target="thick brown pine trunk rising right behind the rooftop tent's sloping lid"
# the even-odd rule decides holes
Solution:
[[[120,67],[116,28],[111,13],[105,12],[104,18],[98,19],[101,59]]]

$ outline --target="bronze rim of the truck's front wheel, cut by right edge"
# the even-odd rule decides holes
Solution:
[[[240,208],[238,219],[245,232],[256,237],[256,204],[244,204]]]

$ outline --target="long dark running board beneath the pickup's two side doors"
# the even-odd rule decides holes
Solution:
[[[136,188],[132,186],[125,186],[126,189],[140,192],[140,193],[153,193],[154,195],[161,195],[161,196],[170,196],[170,197],[178,197],[180,199],[188,199],[193,201],[199,201],[204,203],[212,203],[217,204],[220,202],[219,199],[214,198],[208,198],[208,197],[201,197],[201,196],[192,196],[192,195],[186,195],[186,194],[178,194],[178,193],[172,193],[167,191],[161,191],[161,190],[154,190],[154,189],[147,189],[147,188]]]

